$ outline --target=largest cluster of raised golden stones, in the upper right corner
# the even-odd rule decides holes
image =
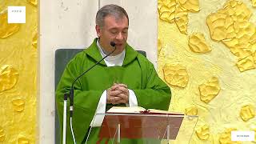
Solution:
[[[256,68],[252,58],[256,27],[249,21],[251,15],[252,12],[244,3],[231,0],[206,19],[211,38],[223,42],[238,57],[236,65],[241,72]]]

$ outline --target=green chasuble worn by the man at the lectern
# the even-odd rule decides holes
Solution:
[[[70,86],[78,75],[102,59],[96,44],[97,38],[87,49],[78,53],[66,66],[56,90],[58,118],[62,129],[63,95],[68,93]],[[158,77],[153,64],[142,54],[138,54],[126,44],[126,56],[122,66],[108,67],[104,61],[94,66],[74,84],[74,114],[73,130],[77,143],[82,143],[90,122],[94,118],[99,99],[104,90],[110,88],[113,82],[124,83],[134,93],[138,106],[146,109],[168,110],[170,105],[170,88]],[[69,103],[68,103],[69,106]],[[69,112],[68,112],[69,113]],[[73,143],[70,132],[70,118],[67,116],[66,143]],[[99,128],[93,128],[88,143],[98,141]],[[62,133],[61,133],[62,134]],[[134,143],[127,140],[121,143]],[[135,142],[137,143],[137,142]]]

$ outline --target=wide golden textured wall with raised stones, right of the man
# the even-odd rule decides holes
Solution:
[[[158,73],[173,93],[170,110],[199,117],[190,143],[239,143],[231,130],[256,133],[255,6],[158,0]]]

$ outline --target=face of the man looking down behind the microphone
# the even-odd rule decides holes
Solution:
[[[99,38],[99,44],[106,52],[110,53],[113,47],[110,42],[116,43],[116,50],[111,55],[122,53],[126,47],[126,40],[128,37],[128,19],[123,16],[122,18],[114,18],[114,16],[106,16],[104,19],[104,26],[96,25],[96,31]]]

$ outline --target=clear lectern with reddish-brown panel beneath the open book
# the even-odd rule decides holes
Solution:
[[[198,116],[184,114],[106,113],[95,117],[103,118],[98,143],[189,143],[198,122]]]

